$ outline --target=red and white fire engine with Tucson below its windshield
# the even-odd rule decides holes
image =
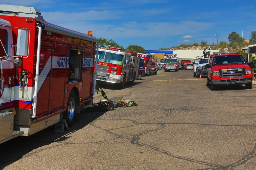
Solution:
[[[110,45],[99,46],[97,62],[97,81],[116,83],[121,89],[126,82],[134,84],[138,79],[140,58],[137,53],[122,51]]]

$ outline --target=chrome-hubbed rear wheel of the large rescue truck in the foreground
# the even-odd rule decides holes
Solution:
[[[67,110],[63,114],[69,127],[73,125],[74,120],[77,117],[77,109],[80,109],[76,107],[77,102],[76,93],[72,90],[68,98]]]

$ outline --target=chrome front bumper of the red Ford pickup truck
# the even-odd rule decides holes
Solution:
[[[230,79],[213,79],[214,85],[235,85],[230,83],[230,80],[236,80],[235,84],[249,84],[252,82],[252,78],[230,78]]]

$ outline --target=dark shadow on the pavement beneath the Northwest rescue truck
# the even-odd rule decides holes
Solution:
[[[53,125],[29,137],[19,136],[0,144],[0,169],[18,161],[34,149],[68,139],[67,135],[82,129],[106,112],[82,113],[84,114],[79,115],[79,121],[64,133],[54,133],[55,125]]]

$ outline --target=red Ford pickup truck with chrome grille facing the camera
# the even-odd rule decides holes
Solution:
[[[216,86],[245,84],[252,88],[252,62],[246,62],[239,51],[214,52],[207,68],[207,85],[211,90]]]

